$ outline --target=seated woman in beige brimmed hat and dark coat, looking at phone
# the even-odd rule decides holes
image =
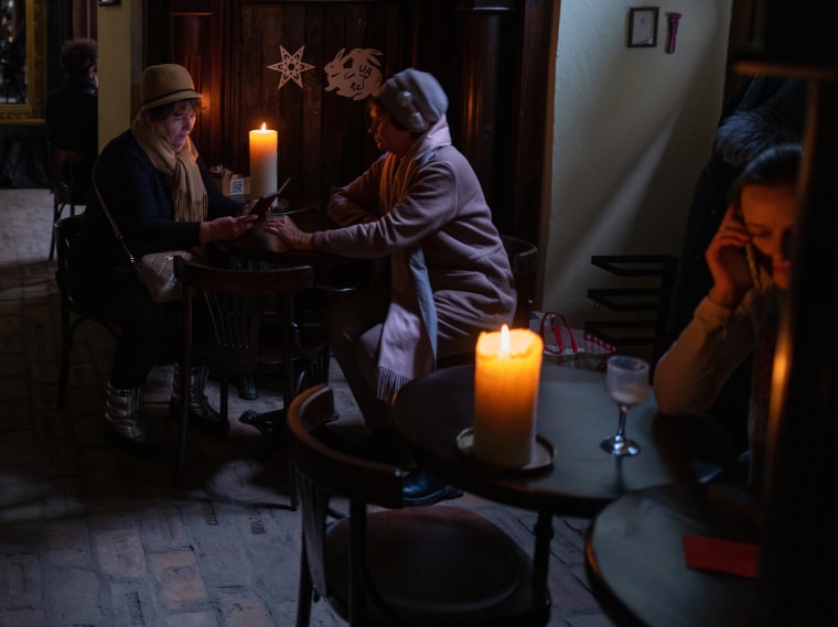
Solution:
[[[233,239],[253,226],[250,205],[225,197],[190,139],[201,106],[185,67],[152,65],[140,79],[140,110],[130,129],[101,151],[71,277],[76,298],[121,327],[106,393],[106,435],[139,454],[159,454],[160,442],[141,411],[142,387],[163,348],[172,306],[155,304],[137,279],[103,205],[135,259]],[[206,369],[190,372],[195,423],[226,434],[206,400]],[[175,364],[172,409],[178,410]]]

